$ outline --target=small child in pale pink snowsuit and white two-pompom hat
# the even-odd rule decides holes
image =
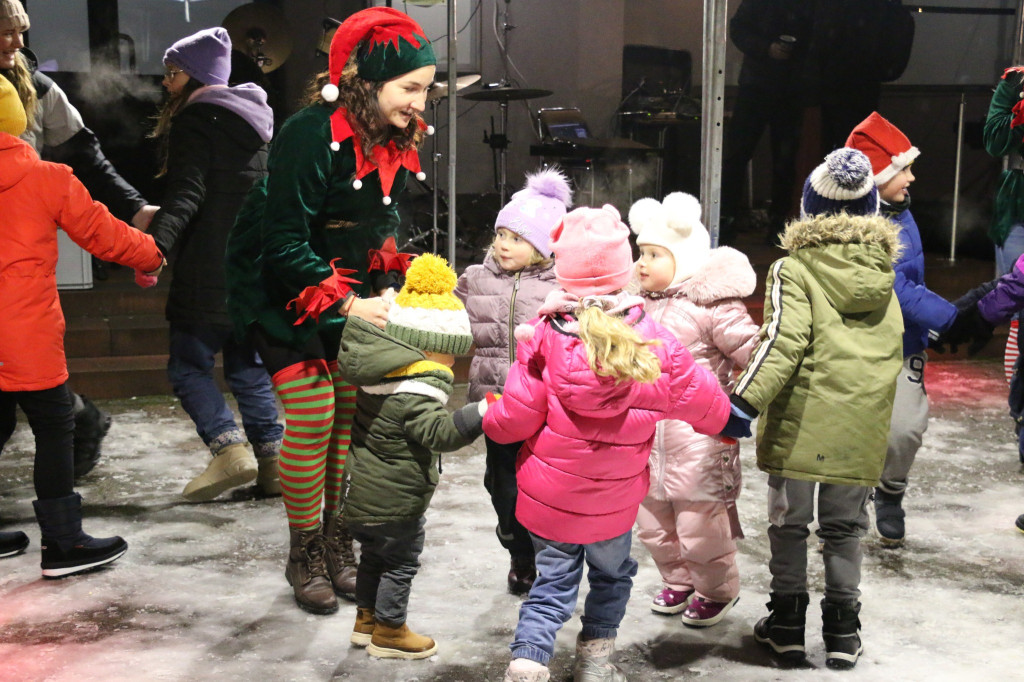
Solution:
[[[630,225],[640,247],[637,275],[647,314],[730,389],[733,369],[745,368],[758,344],[758,326],[740,300],[757,285],[746,256],[728,247],[713,250],[700,204],[683,193],[664,203],[641,199],[630,209]],[[713,626],[739,599],[739,445],[665,421],[650,470],[637,522],[665,584],[651,609],[682,612],[688,626]]]

